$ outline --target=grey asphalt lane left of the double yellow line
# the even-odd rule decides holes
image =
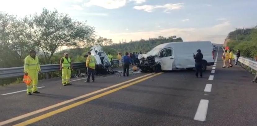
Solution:
[[[129,77],[118,77],[117,75],[97,76],[95,83],[84,83],[84,79],[82,79],[72,82],[73,85],[69,86],[62,86],[60,79],[42,80],[39,82],[40,86],[45,86],[45,88],[39,90],[41,92],[40,94],[33,94],[30,97],[26,95],[26,92],[20,92],[0,96],[0,102],[4,103],[1,104],[0,108],[0,121],[11,119],[143,75],[146,74],[135,73]],[[14,87],[17,91],[24,89],[25,84],[11,85],[10,87]]]

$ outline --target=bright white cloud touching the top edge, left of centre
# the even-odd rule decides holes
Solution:
[[[92,5],[103,7],[106,9],[117,9],[126,5],[126,0],[90,0],[84,3],[84,6],[90,7]]]

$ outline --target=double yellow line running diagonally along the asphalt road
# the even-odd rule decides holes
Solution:
[[[116,92],[116,91],[118,91],[118,90],[120,90],[120,89],[127,88],[127,87],[129,87],[129,86],[131,86],[131,85],[140,83],[140,82],[142,82],[142,81],[145,81],[145,80],[147,80],[147,79],[150,79],[150,78],[152,78],[152,77],[154,77],[154,76],[157,76],[157,75],[160,75],[160,74],[162,74],[162,73],[147,74],[147,75],[144,75],[144,76],[141,76],[141,77],[138,77],[138,78],[129,80],[129,81],[125,81],[125,82],[122,82],[122,83],[118,83],[118,84],[115,84],[115,85],[113,85],[113,86],[110,86],[110,87],[107,87],[107,88],[103,88],[103,89],[97,90],[97,91],[95,91],[95,92],[91,92],[91,93],[89,93],[89,94],[85,94],[85,95],[83,95],[83,96],[76,97],[76,98],[74,98],[74,99],[71,99],[71,100],[67,100],[67,101],[58,103],[58,104],[56,104],[56,105],[48,106],[48,107],[43,108],[43,109],[41,109],[41,110],[36,110],[36,111],[34,111],[34,112],[30,112],[30,113],[25,114],[25,115],[20,115],[20,116],[15,117],[15,118],[8,119],[8,120],[6,120],[6,121],[0,122],[0,125],[8,124],[8,123],[14,122],[14,121],[16,121],[16,120],[23,119],[23,118],[25,118],[25,117],[28,117],[28,116],[37,114],[37,113],[39,113],[39,112],[43,112],[43,111],[49,110],[49,109],[51,109],[51,108],[54,108],[54,107],[57,107],[57,106],[61,106],[61,105],[67,104],[67,103],[69,103],[69,102],[72,102],[72,101],[75,101],[75,100],[78,100],[78,99],[81,99],[81,98],[84,98],[84,97],[87,97],[87,96],[96,94],[96,93],[98,93],[98,92],[102,92],[102,91],[105,91],[105,90],[107,90],[107,89],[114,88],[114,87],[120,86],[120,85],[122,85],[122,84],[128,83],[128,84],[125,84],[125,85],[123,85],[123,86],[121,86],[121,87],[111,89],[111,90],[109,90],[109,91],[107,91],[107,92],[103,92],[103,93],[101,93],[101,94],[95,95],[95,96],[90,97],[90,98],[87,98],[87,99],[85,99],[85,100],[78,101],[78,102],[73,103],[73,104],[71,104],[71,105],[62,107],[62,108],[60,108],[60,109],[57,109],[57,110],[48,112],[48,113],[46,113],[46,114],[40,115],[40,116],[38,116],[38,117],[29,119],[29,120],[26,120],[26,121],[21,122],[21,123],[19,123],[19,124],[16,124],[16,126],[29,125],[29,124],[38,122],[38,121],[40,121],[40,120],[42,120],[42,119],[48,118],[48,117],[50,117],[50,116],[52,116],[52,115],[56,115],[56,114],[58,114],[58,113],[60,113],[60,112],[69,110],[69,109],[71,109],[71,108],[74,108],[74,107],[76,107],[76,106],[82,105],[82,104],[87,103],[87,102],[89,102],[89,101],[92,101],[92,100],[95,100],[95,99],[97,99],[97,98],[100,98],[100,97],[103,97],[103,96],[105,96],[105,95],[108,95],[108,94],[110,94],[110,93]],[[141,79],[141,78],[142,78],[142,79]],[[139,79],[139,80],[138,80],[138,79]],[[135,80],[136,80],[136,81],[135,81]]]

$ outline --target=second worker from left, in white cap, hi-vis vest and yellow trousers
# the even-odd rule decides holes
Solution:
[[[70,74],[73,67],[71,65],[71,60],[69,54],[67,52],[64,53],[64,57],[61,58],[60,61],[60,71],[62,72],[62,85],[71,85],[70,83]]]

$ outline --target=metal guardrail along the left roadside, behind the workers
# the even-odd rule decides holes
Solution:
[[[118,65],[118,60],[113,60],[113,65]],[[85,62],[72,63],[73,69],[85,68]],[[42,73],[55,72],[60,70],[60,64],[47,64],[40,65]],[[24,75],[24,67],[11,67],[11,68],[0,68],[0,79],[11,78],[11,77],[21,77]]]

